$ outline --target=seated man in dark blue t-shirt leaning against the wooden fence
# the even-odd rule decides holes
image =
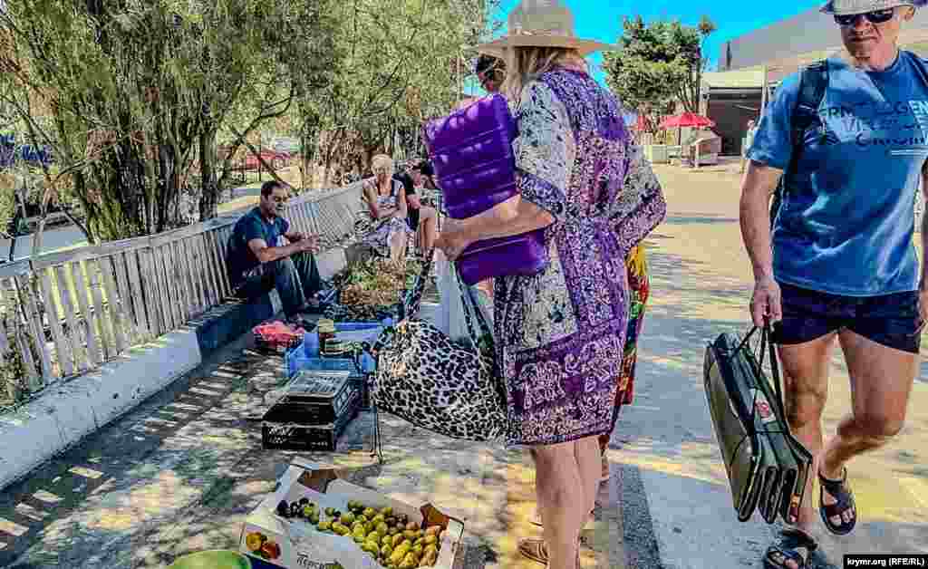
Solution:
[[[258,207],[243,215],[232,231],[226,266],[235,296],[253,300],[277,289],[287,321],[302,325],[300,313],[315,309],[312,300],[322,289],[313,255],[318,237],[290,231],[282,217],[288,199],[289,191],[279,182],[264,183]]]

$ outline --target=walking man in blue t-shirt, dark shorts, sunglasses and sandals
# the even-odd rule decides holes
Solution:
[[[800,90],[799,76],[788,77],[748,151],[741,231],[754,267],[751,313],[755,325],[773,324],[788,420],[817,457],[822,488],[813,497],[809,477],[804,503],[793,505],[797,528],[767,550],[767,566],[801,566],[819,518],[835,535],[854,528],[844,465],[900,431],[919,369],[928,284],[913,244],[913,196],[928,175],[928,66],[897,47],[916,4],[924,0],[824,6],[847,54],[827,62],[817,123],[793,148]],[[769,199],[784,172],[771,234]],[[836,340],[855,406],[824,444],[821,414]]]

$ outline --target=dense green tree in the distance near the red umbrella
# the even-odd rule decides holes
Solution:
[[[637,16],[625,18],[623,30],[620,49],[603,55],[603,68],[607,84],[625,106],[645,116],[652,134],[677,101],[698,112],[706,62],[702,44],[715,24],[705,16],[696,28],[677,20],[645,24]]]

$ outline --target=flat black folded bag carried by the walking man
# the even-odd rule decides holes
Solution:
[[[767,524],[778,514],[794,524],[812,468],[812,454],[797,441],[786,422],[780,368],[769,327],[762,329],[760,356],[749,341],[730,333],[718,336],[705,351],[705,394],[731,486],[738,519],[747,522],[760,510]],[[764,374],[765,352],[776,393]]]

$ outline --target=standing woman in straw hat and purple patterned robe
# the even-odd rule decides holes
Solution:
[[[598,437],[612,424],[629,319],[626,255],[663,219],[664,196],[612,95],[584,56],[610,45],[577,38],[556,0],[522,0],[509,35],[478,49],[502,55],[513,101],[518,196],[447,220],[450,259],[470,243],[547,227],[548,267],[497,278],[495,340],[509,395],[509,442],[534,450],[544,539],[522,554],[579,566],[579,535],[600,475]]]

